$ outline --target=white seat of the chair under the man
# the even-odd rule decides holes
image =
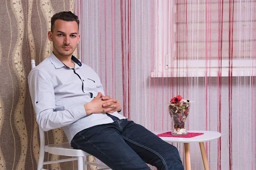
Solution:
[[[86,153],[82,150],[73,149],[73,147],[70,146],[69,142],[45,145],[44,150],[45,152],[55,155],[90,156],[89,153]]]

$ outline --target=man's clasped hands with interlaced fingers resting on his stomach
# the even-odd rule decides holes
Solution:
[[[104,96],[101,92],[89,103],[84,105],[86,114],[91,113],[114,113],[121,110],[121,104],[118,100],[110,96]]]

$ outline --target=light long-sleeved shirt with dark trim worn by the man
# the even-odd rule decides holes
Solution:
[[[86,115],[84,104],[104,90],[99,76],[72,56],[75,68],[64,65],[52,53],[29,73],[29,91],[36,121],[44,130],[62,127],[69,142],[88,127],[113,122],[106,113]],[[117,112],[111,113],[126,119]]]

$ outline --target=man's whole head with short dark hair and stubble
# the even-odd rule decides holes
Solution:
[[[53,45],[53,53],[58,58],[71,57],[79,43],[79,20],[72,12],[54,14],[51,19],[51,31],[48,38]]]

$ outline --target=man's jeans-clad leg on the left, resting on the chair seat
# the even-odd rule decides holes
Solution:
[[[121,129],[118,122],[90,127],[77,133],[71,146],[92,154],[113,170],[150,170],[122,139]]]

